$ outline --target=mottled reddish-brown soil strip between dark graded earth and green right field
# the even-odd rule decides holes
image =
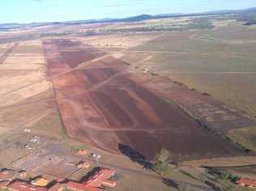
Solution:
[[[246,116],[245,113],[228,108],[227,105],[211,96],[203,96],[201,92],[192,91],[181,83],[163,83],[163,80],[157,76],[151,76],[151,79],[148,79],[144,75],[134,75],[132,79],[181,105],[192,116],[199,118],[208,129],[228,132],[231,129],[256,125],[256,121]]]

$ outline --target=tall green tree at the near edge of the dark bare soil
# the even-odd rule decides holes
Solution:
[[[169,171],[169,151],[164,148],[156,151],[155,163],[152,169],[160,174],[166,174]]]

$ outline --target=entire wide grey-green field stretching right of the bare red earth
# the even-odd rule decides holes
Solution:
[[[239,23],[212,30],[165,33],[128,49],[122,59],[131,64],[137,61],[134,66],[207,91],[254,117],[255,34],[254,28]],[[139,62],[143,59],[147,62]]]

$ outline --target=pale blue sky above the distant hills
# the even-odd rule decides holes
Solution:
[[[256,6],[256,0],[0,0],[0,23],[122,18]]]

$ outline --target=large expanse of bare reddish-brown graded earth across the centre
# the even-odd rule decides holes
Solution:
[[[78,48],[79,42],[66,40],[65,44],[61,40],[59,45],[59,41],[45,40],[45,57],[62,121],[71,138],[114,153],[120,152],[118,144],[130,146],[149,159],[160,147],[168,149],[172,159],[177,160],[245,155],[182,111],[178,106],[179,101],[186,102],[182,97],[189,92],[193,98],[189,89],[156,75],[130,73],[129,63],[111,56],[100,59],[96,49]],[[62,56],[63,49],[88,55],[79,56],[83,59],[75,61],[75,68],[68,64],[70,58],[66,62]],[[165,97],[177,104],[169,103]],[[194,97],[203,100],[200,93]],[[208,100],[217,109],[223,107],[212,98]],[[232,111],[226,110],[228,116]],[[220,123],[221,117],[214,120]],[[254,122],[246,117],[245,120]]]

